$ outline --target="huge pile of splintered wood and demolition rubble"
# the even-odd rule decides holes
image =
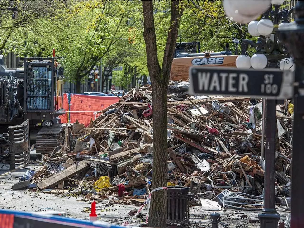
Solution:
[[[260,209],[264,185],[261,100],[189,97],[186,85],[169,85],[168,186],[188,186],[195,195],[190,202],[194,206],[213,200],[219,207]],[[277,106],[283,131],[276,178],[277,196],[282,197],[290,194],[292,160],[292,113],[290,101],[285,103]],[[31,191],[51,188],[57,194],[105,200],[106,205],[142,204],[152,190],[157,165],[153,164],[151,104],[152,88],[146,85],[101,111],[87,127],[79,123],[66,127],[69,140],[60,150],[42,155],[43,167],[31,178],[37,188]],[[230,200],[225,202],[223,194],[219,197],[223,191]]]

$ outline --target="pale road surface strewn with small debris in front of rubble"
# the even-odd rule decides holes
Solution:
[[[0,171],[0,208],[25,212],[40,212],[48,210],[59,210],[66,212],[66,215],[76,219],[89,219],[90,204],[84,201],[82,197],[61,196],[43,192],[33,192],[30,190],[13,191],[12,185],[19,181],[19,178],[27,169],[39,170],[39,165],[31,165],[26,169],[16,169],[9,171]],[[105,202],[98,202],[96,213],[98,220],[102,222],[121,225],[124,221],[130,219],[128,213],[133,209],[139,209],[133,204],[130,205],[111,205],[104,206]],[[142,217],[136,217],[130,225],[138,226],[145,222],[147,208],[144,207]],[[280,221],[283,222],[288,212],[280,207],[278,212],[281,215]],[[190,227],[211,227],[211,211],[204,211],[201,207],[190,208]],[[260,227],[258,222],[258,213],[256,211],[239,211],[225,209],[219,212],[220,220],[227,224],[229,228],[253,228]],[[242,216],[246,215],[246,216]],[[246,217],[246,218],[245,218]],[[254,222],[254,223],[251,223]],[[129,225],[129,226],[130,226]],[[219,227],[223,227],[219,225]]]

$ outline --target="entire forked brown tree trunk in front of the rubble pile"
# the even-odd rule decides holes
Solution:
[[[152,190],[167,187],[168,181],[168,141],[167,141],[167,92],[171,64],[178,33],[178,20],[182,15],[179,1],[171,1],[171,22],[168,30],[162,68],[157,59],[156,34],[153,18],[153,2],[142,1],[147,67],[152,83],[153,105],[153,174]],[[178,12],[180,10],[180,12]],[[167,226],[167,190],[158,190],[151,195],[149,227]]]

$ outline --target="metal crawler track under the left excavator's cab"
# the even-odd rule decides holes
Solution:
[[[63,137],[60,135],[65,124],[43,126],[36,136],[36,154],[50,154],[60,143],[63,145]]]

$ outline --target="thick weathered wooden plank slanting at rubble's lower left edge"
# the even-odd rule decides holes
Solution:
[[[47,178],[43,181],[40,181],[37,184],[37,187],[41,190],[52,187],[64,180],[66,180],[67,178],[83,171],[87,167],[88,167],[88,164],[85,161],[80,161],[77,164],[74,164],[74,165],[70,166],[69,168],[64,169],[63,171],[60,171],[59,173],[56,173],[53,176],[50,176],[49,178]]]

